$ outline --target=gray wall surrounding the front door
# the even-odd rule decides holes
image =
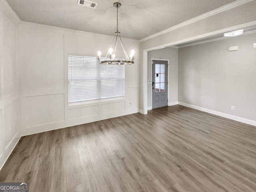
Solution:
[[[168,103],[178,101],[178,49],[164,48],[148,52],[148,80],[151,80],[151,59],[169,59]],[[148,107],[151,106],[152,84],[148,84]]]

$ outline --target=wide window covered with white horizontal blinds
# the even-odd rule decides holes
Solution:
[[[68,56],[69,103],[119,96],[124,96],[124,65],[102,65],[96,57]]]

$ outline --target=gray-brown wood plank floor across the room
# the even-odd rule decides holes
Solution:
[[[255,192],[256,127],[176,105],[34,134],[0,181],[30,192]]]

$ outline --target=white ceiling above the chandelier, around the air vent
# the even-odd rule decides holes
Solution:
[[[142,39],[235,0],[91,0],[96,9],[77,0],[6,0],[23,21],[114,35],[116,8],[120,2],[122,37]]]

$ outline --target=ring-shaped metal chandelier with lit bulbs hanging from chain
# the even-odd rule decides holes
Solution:
[[[121,40],[120,37],[120,32],[118,31],[118,8],[121,6],[120,3],[116,2],[114,3],[114,7],[116,7],[116,32],[114,39],[112,41],[112,44],[110,48],[108,49],[108,53],[106,54],[105,58],[100,58],[101,56],[101,51],[98,51],[98,62],[100,64],[112,64],[112,65],[120,65],[120,64],[134,64],[134,54],[135,51],[134,49],[131,50],[130,52],[130,57],[128,57],[128,54],[126,53],[126,50],[124,49],[124,44]],[[124,52],[125,60],[120,60],[116,58],[116,47],[117,47],[117,42],[120,41],[120,44],[122,46],[122,50]],[[103,60],[104,59],[104,60]]]

